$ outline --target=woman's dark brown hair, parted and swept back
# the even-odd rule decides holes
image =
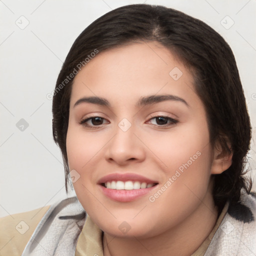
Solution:
[[[249,193],[251,187],[250,178],[243,174],[251,127],[233,53],[204,22],[171,8],[148,4],[122,6],[96,19],[76,38],[62,65],[52,102],[52,129],[62,152],[66,191],[66,134],[73,78],[66,80],[64,86],[60,84],[95,49],[100,53],[123,44],[152,40],[168,48],[192,70],[196,93],[207,113],[211,144],[218,142],[223,154],[233,153],[231,166],[213,175],[215,205],[221,207],[227,199],[238,201],[241,188]]]

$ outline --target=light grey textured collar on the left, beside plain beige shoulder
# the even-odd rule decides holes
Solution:
[[[24,241],[22,256],[74,255],[85,215],[76,196],[52,204]]]

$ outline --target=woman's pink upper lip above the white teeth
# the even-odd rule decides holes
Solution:
[[[140,181],[140,182],[146,182],[147,184],[149,183],[158,183],[155,180],[149,179],[147,177],[144,177],[142,175],[138,175],[136,173],[111,173],[108,175],[103,176],[98,180],[98,184],[105,183],[107,181],[112,181],[112,180],[121,180],[121,181]]]

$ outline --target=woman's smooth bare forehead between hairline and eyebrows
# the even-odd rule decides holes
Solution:
[[[157,93],[190,97],[193,76],[166,47],[155,41],[141,42],[105,50],[92,58],[74,78],[71,103],[93,95],[128,104],[141,95]]]

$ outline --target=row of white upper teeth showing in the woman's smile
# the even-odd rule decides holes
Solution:
[[[132,189],[139,189],[139,188],[148,188],[148,187],[152,187],[154,184],[153,183],[146,183],[146,182],[142,182],[140,183],[139,181],[134,181],[132,182],[131,180],[128,181],[121,181],[121,180],[117,180],[114,181],[112,180],[107,181],[105,183],[105,187],[106,188],[110,188],[110,189],[124,189],[124,190],[132,190]]]

